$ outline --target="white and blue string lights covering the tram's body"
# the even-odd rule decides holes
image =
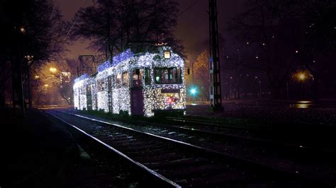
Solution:
[[[170,52],[169,59],[164,58],[164,52]],[[179,69],[181,83],[155,83],[155,68]],[[185,110],[186,86],[184,81],[184,60],[174,54],[170,47],[160,47],[158,53],[135,56],[130,49],[113,57],[113,64],[105,61],[98,68],[93,78],[81,76],[74,83],[74,107],[80,110],[86,107],[86,86],[91,89],[93,110],[103,110],[118,114],[124,111],[131,114],[130,85],[133,70],[149,69],[149,78],[145,75],[140,79],[143,95],[143,114],[150,117],[156,110]],[[145,81],[147,80],[147,81]]]

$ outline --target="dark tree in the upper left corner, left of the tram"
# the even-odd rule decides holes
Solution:
[[[64,51],[67,23],[62,20],[60,11],[47,0],[3,0],[0,7],[1,30],[4,32],[1,35],[0,62],[11,62],[14,90],[18,90],[16,82],[21,80],[17,76],[23,75],[23,83],[27,83],[25,90],[30,86],[30,67],[57,59]],[[27,59],[28,56],[33,58]]]

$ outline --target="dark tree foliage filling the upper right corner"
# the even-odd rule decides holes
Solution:
[[[267,74],[274,98],[298,67],[310,69],[315,81],[332,67],[327,59],[335,52],[334,1],[250,0],[246,6],[230,30],[250,44],[245,65]],[[320,64],[324,69],[314,70]]]

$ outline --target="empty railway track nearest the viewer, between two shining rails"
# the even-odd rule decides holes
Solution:
[[[296,173],[78,114],[55,117],[182,187],[323,187]]]

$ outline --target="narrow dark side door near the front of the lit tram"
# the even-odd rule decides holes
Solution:
[[[132,71],[132,84],[130,88],[130,108],[132,114],[143,115],[142,78],[143,69]]]

